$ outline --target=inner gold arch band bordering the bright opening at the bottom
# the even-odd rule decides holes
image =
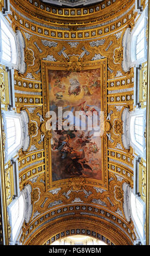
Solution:
[[[76,228],[75,228],[76,227]],[[104,237],[107,237],[108,240],[112,241],[114,245],[133,245],[133,242],[129,239],[129,237],[121,231],[121,229],[114,229],[113,224],[108,223],[105,220],[99,221],[92,217],[82,217],[75,220],[73,217],[64,218],[64,220],[57,221],[51,225],[45,224],[41,229],[38,229],[35,233],[33,233],[30,238],[24,243],[24,245],[44,245],[49,239],[55,237],[57,233],[64,233],[67,236],[66,231],[74,230],[76,233],[77,230],[90,230],[90,235],[92,235],[92,231],[95,233],[101,234]],[[93,233],[94,234],[94,233]]]

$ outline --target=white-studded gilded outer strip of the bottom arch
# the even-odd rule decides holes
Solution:
[[[61,218],[63,216],[70,216],[75,215],[76,212],[79,212],[79,209],[82,209],[82,212],[80,212],[80,215],[90,215],[90,216],[96,216],[98,218],[101,218],[102,220],[106,220],[110,223],[115,224],[119,229],[125,233],[129,239],[132,241],[134,240],[134,234],[133,231],[130,229],[130,225],[126,223],[125,220],[123,220],[121,217],[116,216],[114,213],[112,214],[108,210],[95,207],[92,204],[88,205],[62,205],[61,208],[57,208],[55,210],[51,210],[47,213],[44,213],[43,215],[38,216],[36,220],[30,223],[27,229],[24,230],[21,238],[21,242],[23,244],[27,243],[29,238],[41,227],[43,227],[45,224],[49,222],[53,222],[54,220],[58,220],[58,218]],[[61,210],[61,211],[60,211]],[[89,212],[88,212],[89,211]],[[59,215],[58,212],[60,213]],[[62,214],[62,212],[65,212]],[[37,232],[36,232],[37,234]],[[29,242],[28,242],[29,243]]]

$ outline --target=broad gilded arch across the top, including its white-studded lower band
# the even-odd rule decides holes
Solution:
[[[119,1],[116,0],[116,3],[118,2]],[[14,30],[20,27],[20,28],[24,28],[26,32],[28,31],[33,34],[37,34],[39,36],[40,35],[46,36],[47,38],[51,38],[51,39],[58,39],[58,40],[60,39],[61,40],[62,39],[63,40],[94,39],[102,35],[107,36],[108,34],[115,33],[115,31],[118,31],[121,28],[125,28],[127,26],[131,26],[131,27],[133,26],[134,19],[137,14],[134,12],[134,1],[131,3],[131,5],[128,3],[128,1],[126,1],[126,3],[124,1],[123,4],[121,5],[119,2],[119,5],[120,5],[119,12],[116,8],[116,3],[114,5],[115,9],[112,13],[111,11],[110,13],[108,12],[105,13],[105,9],[103,9],[103,10],[100,10],[98,13],[96,11],[95,14],[89,13],[87,19],[84,21],[84,15],[77,15],[77,16],[73,15],[73,16],[68,16],[68,18],[65,15],[63,15],[62,17],[58,15],[57,19],[55,20],[55,14],[50,14],[49,11],[47,12],[46,19],[44,19],[43,9],[40,10],[40,13],[36,14],[34,13],[36,10],[35,6],[32,6],[32,4],[30,4],[31,6],[27,11],[26,5],[28,5],[28,2],[25,3],[26,5],[24,5],[21,3],[21,1],[17,1],[16,3],[17,5],[14,2],[11,5],[10,19],[12,20],[12,28],[14,28]],[[18,8],[19,4],[21,4],[21,9]],[[110,8],[110,5],[108,9],[109,8]],[[124,11],[123,16],[122,16],[122,8]],[[22,16],[22,14],[24,16]],[[94,15],[93,19],[92,19],[92,15]],[[39,19],[39,17],[41,17],[41,19]],[[80,20],[79,20],[79,17],[80,17]],[[38,22],[38,25],[37,25],[37,22]]]

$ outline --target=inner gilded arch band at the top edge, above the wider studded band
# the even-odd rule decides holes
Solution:
[[[75,24],[74,19],[77,21],[81,21],[82,23],[87,20],[96,21],[108,19],[112,15],[122,13],[122,10],[126,10],[127,8],[131,7],[134,1],[126,0],[123,3],[120,3],[118,0],[113,1],[103,1],[100,4],[95,4],[90,7],[84,8],[57,8],[50,4],[41,3],[38,0],[28,1],[25,0],[24,4],[20,0],[10,1],[13,6],[18,6],[19,9],[26,11],[29,15],[34,16],[36,19],[40,17],[40,19],[50,20],[51,22],[55,23],[57,21],[62,20],[61,23],[65,21],[72,20],[72,24]],[[46,19],[45,19],[46,18]]]

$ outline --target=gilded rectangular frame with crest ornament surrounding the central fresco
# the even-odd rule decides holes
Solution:
[[[63,72],[74,72],[77,74],[76,70],[79,69],[80,62],[77,61],[76,58],[70,58],[70,60],[73,59],[72,65],[66,66],[66,60],[64,62],[55,62],[55,63],[49,63],[46,61],[41,62],[41,72],[42,72],[42,86],[43,86],[43,117],[47,115],[47,112],[50,109],[50,103],[49,103],[49,70],[62,70]],[[75,61],[74,61],[75,60]],[[71,63],[71,61],[70,61]],[[72,66],[72,70],[70,71],[70,66]],[[95,62],[82,62],[82,70],[95,70],[100,69],[100,77],[103,79],[103,86],[101,87],[101,96],[102,96],[102,106],[101,111],[107,112],[107,60],[101,59],[97,60]],[[81,70],[81,66],[80,69]],[[67,73],[66,73],[67,74]],[[69,74],[69,73],[68,73]],[[70,73],[71,74],[71,73]],[[79,71],[80,74],[80,71]],[[73,96],[72,96],[73,97]],[[44,150],[45,150],[45,175],[46,175],[46,190],[49,190],[52,186],[55,186],[58,183],[60,186],[66,186],[67,180],[61,180],[61,181],[52,181],[52,172],[51,172],[51,145],[50,141],[47,143],[44,142]],[[94,149],[93,149],[94,150]],[[100,181],[98,180],[89,180],[86,178],[87,182],[90,182],[90,184],[100,185],[102,187],[105,187],[108,189],[108,171],[107,171],[107,138],[102,139],[102,159],[104,159],[102,163],[102,179]]]

